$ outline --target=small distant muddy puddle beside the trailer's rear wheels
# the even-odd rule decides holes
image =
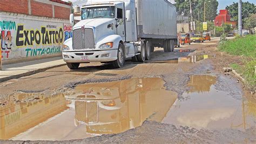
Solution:
[[[168,64],[179,64],[179,63],[197,63],[198,61],[208,59],[210,56],[208,55],[198,55],[198,56],[190,56],[190,57],[179,57],[170,60],[164,61],[152,61],[151,63],[168,63]]]

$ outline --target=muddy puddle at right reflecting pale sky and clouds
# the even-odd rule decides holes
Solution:
[[[212,130],[238,129],[246,131],[256,126],[256,103],[245,98],[235,99],[218,91],[217,77],[191,76],[191,90],[177,100],[163,122],[166,124]]]

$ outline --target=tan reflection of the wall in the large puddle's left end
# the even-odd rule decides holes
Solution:
[[[0,107],[0,139],[10,139],[64,111],[64,95],[45,98],[43,95],[10,95]]]

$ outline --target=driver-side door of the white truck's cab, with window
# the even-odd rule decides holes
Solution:
[[[117,6],[117,35],[125,40],[124,6]]]

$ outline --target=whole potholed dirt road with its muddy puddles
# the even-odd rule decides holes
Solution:
[[[237,59],[225,60],[217,43],[170,53],[156,48],[152,60],[127,61],[117,70],[100,63],[73,71],[62,66],[0,83],[0,139],[256,142],[256,100],[221,72]]]

